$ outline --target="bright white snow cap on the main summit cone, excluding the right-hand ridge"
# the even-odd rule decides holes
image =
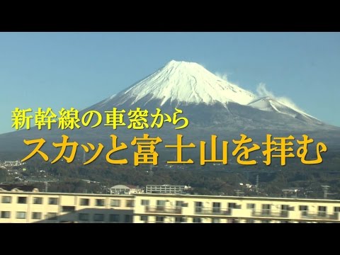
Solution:
[[[131,98],[132,103],[136,103],[147,96],[149,100],[161,100],[161,106],[166,101],[207,105],[235,102],[246,105],[256,98],[251,92],[217,77],[200,64],[174,60],[117,96],[123,99],[119,103]]]

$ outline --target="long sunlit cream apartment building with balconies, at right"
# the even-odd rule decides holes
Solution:
[[[340,200],[135,194],[133,222],[340,222]]]

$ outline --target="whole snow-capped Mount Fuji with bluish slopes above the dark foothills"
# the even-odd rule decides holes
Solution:
[[[193,62],[177,62],[172,60],[153,74],[145,77],[128,89],[120,91],[105,100],[84,109],[79,113],[96,110],[112,111],[113,108],[128,113],[130,109],[147,109],[154,113],[161,108],[162,113],[174,113],[174,108],[183,110],[189,125],[183,130],[175,130],[173,125],[161,129],[128,130],[120,127],[103,125],[98,128],[80,128],[79,130],[20,130],[0,135],[0,150],[8,148],[22,149],[23,139],[44,137],[50,142],[60,141],[62,134],[72,136],[79,142],[109,143],[109,135],[115,133],[119,139],[132,140],[136,134],[143,132],[149,135],[159,135],[164,141],[175,140],[176,134],[181,133],[197,142],[209,139],[210,135],[221,135],[228,139],[239,137],[241,133],[252,135],[254,141],[263,141],[266,133],[273,135],[313,135],[314,139],[331,141],[337,144],[340,128],[327,125],[311,115],[285,105],[283,102],[270,97],[259,97],[250,91],[230,83],[212,74],[200,64]],[[181,131],[181,132],[179,132]],[[94,141],[96,140],[96,141]],[[340,141],[339,141],[340,142]]]

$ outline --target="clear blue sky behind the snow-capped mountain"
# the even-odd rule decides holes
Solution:
[[[0,133],[14,108],[79,110],[170,60],[259,83],[340,126],[340,33],[0,33]]]

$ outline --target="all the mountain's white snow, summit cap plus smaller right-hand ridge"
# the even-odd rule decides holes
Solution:
[[[261,87],[266,91],[265,86]],[[317,120],[317,118],[304,113],[293,103],[284,103],[269,93],[265,96],[258,91],[258,95],[246,91],[229,81],[217,77],[200,64],[194,62],[178,62],[171,60],[157,72],[145,79],[138,81],[130,88],[107,98],[97,104],[96,108],[106,108],[106,105],[120,106],[124,103],[130,105],[157,100],[159,105],[164,103],[205,104],[214,105],[222,103],[227,108],[227,103],[239,103],[260,111],[276,112],[290,115],[293,118]]]

